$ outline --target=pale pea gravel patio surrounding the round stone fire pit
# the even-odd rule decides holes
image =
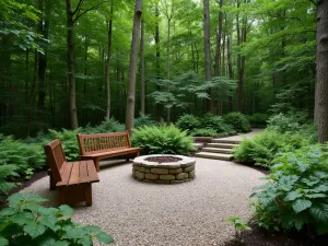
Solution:
[[[140,183],[131,163],[102,163],[99,183],[93,184],[93,206],[74,208],[73,220],[101,226],[119,246],[225,245],[234,227],[225,222],[236,214],[249,220],[248,196],[263,174],[233,162],[196,159],[196,178],[177,185]],[[22,190],[58,206],[45,177]],[[95,242],[94,245],[103,245]]]

